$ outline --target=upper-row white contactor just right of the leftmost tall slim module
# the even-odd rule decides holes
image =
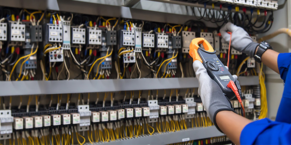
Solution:
[[[72,44],[85,44],[86,29],[84,28],[72,28]]]

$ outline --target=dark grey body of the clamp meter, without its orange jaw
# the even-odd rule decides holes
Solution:
[[[209,52],[206,51],[202,48],[198,48],[197,50],[200,58],[203,61],[203,65],[207,70],[208,75],[210,76],[211,79],[213,79],[218,86],[222,89],[222,91],[225,93],[225,95],[228,97],[228,99],[233,99],[235,97],[234,92],[227,87],[227,84],[229,83],[230,80],[234,81],[234,78],[232,75],[228,72],[224,64],[220,61],[219,58],[216,56],[216,51]],[[217,71],[211,70],[212,68],[207,66],[207,63],[210,63],[211,65],[217,65],[216,67],[218,68]]]

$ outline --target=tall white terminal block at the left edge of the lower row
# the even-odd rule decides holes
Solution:
[[[11,116],[11,110],[0,110],[0,139],[11,138],[12,128],[13,116]]]

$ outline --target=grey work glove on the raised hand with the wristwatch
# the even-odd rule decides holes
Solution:
[[[245,53],[250,57],[254,57],[255,50],[259,43],[253,42],[253,39],[244,29],[228,22],[219,31],[227,43],[229,43],[230,40],[230,34],[228,34],[227,31],[230,31],[232,33],[231,46],[237,51]]]

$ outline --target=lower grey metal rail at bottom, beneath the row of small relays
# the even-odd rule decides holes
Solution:
[[[132,138],[127,140],[115,140],[108,143],[95,143],[104,145],[166,145],[182,142],[182,139],[197,140],[216,136],[223,136],[224,134],[218,131],[214,126],[207,128],[194,128],[181,130],[177,132],[162,132],[154,133],[153,135],[146,135],[144,137]]]

